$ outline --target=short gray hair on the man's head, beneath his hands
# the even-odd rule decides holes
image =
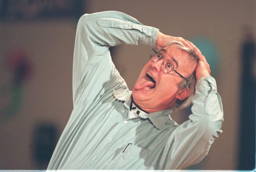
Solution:
[[[189,55],[190,55],[190,59],[193,61],[193,62],[196,62],[198,63],[198,57],[196,55],[196,53],[194,52],[193,49],[190,49],[188,47],[186,47],[184,44],[182,44],[182,42],[180,41],[170,41],[170,42],[167,42],[164,47],[167,47],[167,46],[170,46],[170,45],[176,45],[180,50],[184,50],[186,51]],[[190,95],[183,99],[183,100],[179,100],[177,99],[176,103],[175,103],[175,107],[173,107],[172,109],[173,110],[177,110],[177,109],[183,109],[183,108],[186,108],[188,107],[191,102],[192,102],[192,98],[194,97],[194,94],[195,94],[195,86],[196,86],[196,70],[193,71],[193,73],[188,77],[186,78],[187,81],[185,79],[183,79],[179,84],[178,84],[178,88],[179,89],[183,89],[183,88],[187,88],[187,89],[190,89],[191,90],[191,93]]]

